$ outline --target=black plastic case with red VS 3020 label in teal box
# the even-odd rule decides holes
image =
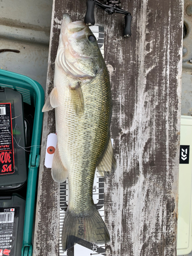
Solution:
[[[22,94],[0,88],[0,195],[27,181],[25,133]]]

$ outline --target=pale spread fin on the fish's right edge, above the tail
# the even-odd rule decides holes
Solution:
[[[108,147],[105,150],[104,156],[97,166],[98,172],[101,176],[104,176],[105,172],[111,172],[112,168],[116,168],[116,161],[113,154],[113,147],[111,138],[108,143]]]

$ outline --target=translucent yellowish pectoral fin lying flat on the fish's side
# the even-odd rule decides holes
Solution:
[[[80,83],[77,82],[75,87],[69,86],[69,90],[71,93],[71,99],[75,108],[76,114],[80,114],[84,112],[84,100],[83,94],[80,87]]]

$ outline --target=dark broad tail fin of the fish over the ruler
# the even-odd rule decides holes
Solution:
[[[74,246],[79,239],[101,245],[110,242],[110,234],[95,205],[86,214],[75,214],[69,208],[62,229],[62,249]]]

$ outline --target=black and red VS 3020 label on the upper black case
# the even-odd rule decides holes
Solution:
[[[11,103],[0,103],[0,175],[14,173]]]

